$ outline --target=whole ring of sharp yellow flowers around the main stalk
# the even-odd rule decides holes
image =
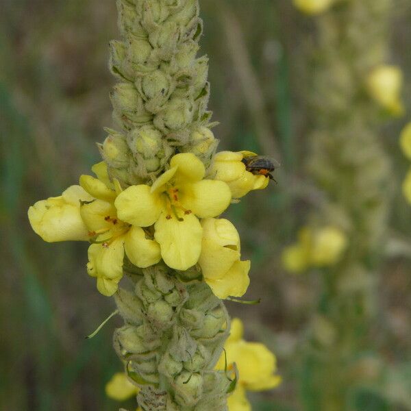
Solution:
[[[87,272],[103,295],[113,295],[123,277],[125,258],[140,268],[163,260],[185,271],[198,264],[214,294],[241,297],[249,285],[249,261],[240,260],[240,237],[232,223],[216,218],[268,178],[246,170],[242,153],[223,151],[206,177],[203,162],[178,153],[151,186],[125,189],[110,181],[105,162],[97,175],[82,175],[60,197],[38,201],[29,221],[45,241],[88,240]]]

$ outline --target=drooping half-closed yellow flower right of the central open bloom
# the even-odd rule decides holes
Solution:
[[[240,236],[225,219],[203,219],[199,265],[204,280],[221,299],[241,297],[249,286],[250,262],[240,261]]]

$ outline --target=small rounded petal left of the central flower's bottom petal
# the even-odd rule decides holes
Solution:
[[[157,264],[161,260],[160,245],[147,239],[140,227],[132,227],[125,235],[125,253],[129,260],[142,269]]]

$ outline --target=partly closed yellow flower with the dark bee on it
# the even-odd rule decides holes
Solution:
[[[269,184],[269,177],[254,175],[246,170],[241,161],[248,151],[220,151],[214,155],[210,174],[214,179],[226,182],[232,192],[232,197],[238,199],[251,190],[262,190]]]

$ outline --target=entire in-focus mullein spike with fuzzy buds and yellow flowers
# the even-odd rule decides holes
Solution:
[[[79,186],[38,201],[29,221],[45,241],[91,243],[87,272],[124,319],[114,332],[124,374],[108,395],[137,395],[144,411],[225,411],[235,382],[215,369],[230,329],[221,299],[245,294],[250,262],[219,216],[232,199],[266,188],[269,175],[247,171],[248,151],[214,155],[198,0],[117,5],[110,98],[119,131],[105,130],[97,178],[82,175]],[[272,354],[257,351],[273,371]],[[241,366],[240,381],[251,371]]]

